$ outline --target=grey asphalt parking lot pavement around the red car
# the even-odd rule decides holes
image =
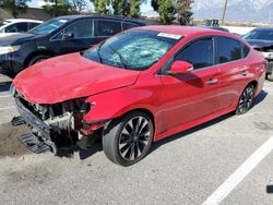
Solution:
[[[215,200],[218,188],[222,204],[273,204],[271,82],[247,114],[226,114],[161,141],[128,168],[111,164],[100,144],[70,158],[29,153],[16,141],[26,128],[9,123],[16,110],[8,84],[0,85],[1,204],[202,204]],[[257,166],[245,166],[256,153]]]

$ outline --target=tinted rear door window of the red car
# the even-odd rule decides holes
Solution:
[[[217,37],[217,63],[226,63],[242,58],[241,43],[239,40]]]

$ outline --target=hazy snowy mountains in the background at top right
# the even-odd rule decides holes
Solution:
[[[194,19],[222,20],[225,0],[194,0]],[[225,20],[273,23],[273,0],[227,0]]]

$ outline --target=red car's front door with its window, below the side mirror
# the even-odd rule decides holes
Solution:
[[[174,57],[187,61],[193,71],[163,75],[165,128],[171,129],[217,111],[217,76],[214,38],[201,38],[183,47]]]

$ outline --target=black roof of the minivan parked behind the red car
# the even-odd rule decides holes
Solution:
[[[139,25],[145,25],[143,22],[141,22],[140,20],[134,20],[134,19],[130,19],[130,17],[124,17],[124,16],[118,16],[118,15],[100,15],[100,14],[91,14],[91,15],[63,15],[63,16],[58,16],[56,19],[64,19],[68,21],[72,21],[72,20],[78,20],[78,19],[86,19],[86,17],[93,17],[93,19],[107,19],[107,20],[117,20],[120,22],[131,22],[131,23],[136,23]]]

